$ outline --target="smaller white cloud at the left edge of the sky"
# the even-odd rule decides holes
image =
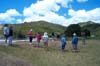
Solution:
[[[11,22],[15,20],[16,16],[21,16],[21,14],[15,9],[9,9],[5,13],[0,13],[0,21]]]

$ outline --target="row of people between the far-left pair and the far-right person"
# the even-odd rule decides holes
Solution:
[[[28,37],[29,37],[29,44],[32,45],[32,37],[33,37],[32,29],[30,29],[30,31],[28,32]],[[51,33],[50,37],[54,41],[54,38],[55,38],[54,32]],[[44,46],[48,47],[49,37],[48,37],[47,32],[44,32],[43,36],[38,32],[36,34],[36,39],[37,39],[38,47],[40,46],[39,45],[40,40],[43,40]],[[66,40],[65,35],[61,36],[60,34],[58,34],[57,39],[59,39],[61,41],[61,50],[64,51],[65,46],[67,45],[67,40]],[[76,33],[74,33],[73,37],[72,37],[72,47],[73,47],[74,50],[77,50],[77,46],[78,46],[78,36],[76,35]]]

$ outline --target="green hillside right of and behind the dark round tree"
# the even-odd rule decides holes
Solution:
[[[100,24],[99,23],[88,21],[88,22],[84,22],[84,23],[79,23],[79,25],[83,29],[90,30],[91,35],[95,35],[96,37],[100,38]]]

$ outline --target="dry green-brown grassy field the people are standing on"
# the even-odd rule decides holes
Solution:
[[[87,46],[83,48],[79,41],[78,53],[72,52],[71,41],[67,42],[63,53],[58,41],[49,42],[48,49],[43,48],[43,43],[40,48],[36,43],[30,48],[27,42],[17,42],[13,47],[1,45],[0,66],[100,66],[99,42],[87,40]]]

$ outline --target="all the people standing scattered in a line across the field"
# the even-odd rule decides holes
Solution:
[[[3,28],[3,33],[4,36],[6,38],[5,42],[8,45],[12,45],[12,38],[13,38],[13,28],[12,26],[8,26],[7,24],[4,25]],[[40,32],[38,32],[36,34],[36,36],[34,37],[33,35],[33,31],[32,29],[29,30],[28,32],[28,38],[29,38],[29,45],[32,47],[32,40],[33,38],[37,39],[37,45],[38,47],[40,47],[40,41],[42,40],[44,43],[44,46],[47,48],[48,47],[48,40],[49,40],[49,36],[47,32],[44,32],[43,35],[41,35]],[[51,33],[52,40],[54,41],[55,39],[55,34],[54,32]],[[85,33],[82,33],[82,40],[83,40],[83,45],[85,45]],[[57,37],[56,37],[59,41],[61,41],[61,50],[64,51],[65,46],[67,45],[67,39],[65,37],[65,35],[61,35],[59,32],[57,33]],[[76,33],[73,33],[73,37],[72,37],[72,47],[74,50],[77,50],[77,46],[78,46],[78,36],[76,35]]]

